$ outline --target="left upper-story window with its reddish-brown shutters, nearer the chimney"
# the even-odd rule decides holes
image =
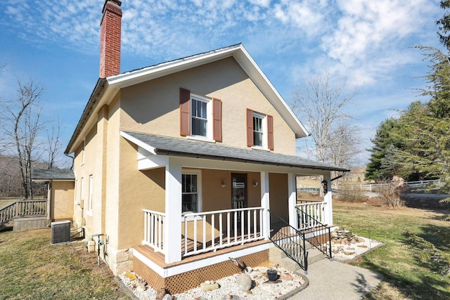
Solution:
[[[180,88],[180,134],[201,141],[221,142],[221,100]]]

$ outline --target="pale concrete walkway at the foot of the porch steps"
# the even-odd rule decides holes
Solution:
[[[376,287],[383,275],[339,261],[322,259],[308,268],[309,286],[292,300],[356,300]]]

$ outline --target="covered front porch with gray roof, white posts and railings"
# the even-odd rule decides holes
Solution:
[[[297,202],[297,176],[318,176],[330,186],[335,167],[260,150],[121,135],[137,146],[138,170],[163,190],[143,208],[142,242],[133,247],[134,268],[149,278],[217,273],[224,264],[230,268],[229,257],[266,260],[281,230],[287,238],[333,224],[330,190],[321,201]]]

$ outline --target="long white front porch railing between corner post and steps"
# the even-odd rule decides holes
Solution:
[[[216,251],[236,244],[263,240],[262,207],[184,214],[183,256]]]

